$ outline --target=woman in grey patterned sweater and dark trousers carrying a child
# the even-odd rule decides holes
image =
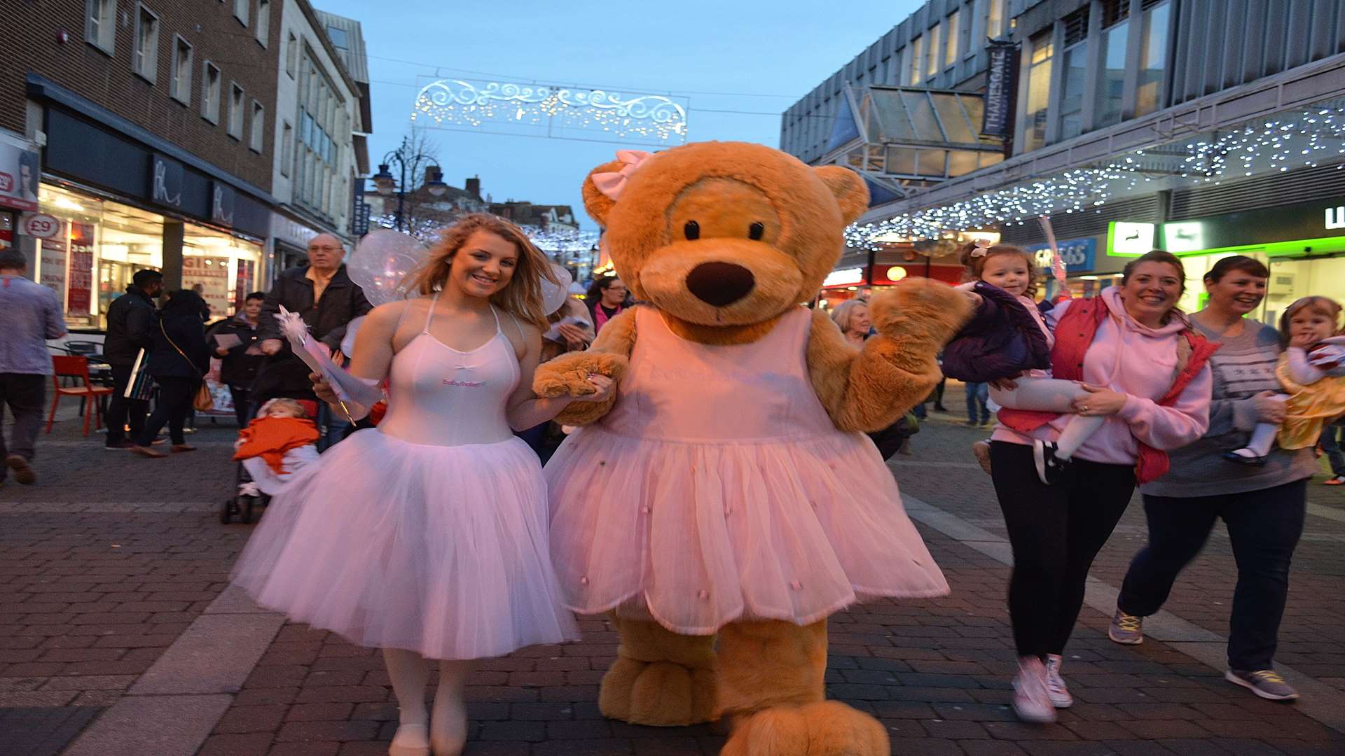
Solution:
[[[1275,673],[1274,659],[1317,460],[1311,448],[1275,447],[1255,465],[1229,464],[1223,456],[1244,447],[1258,422],[1286,417],[1284,402],[1275,397],[1283,391],[1275,377],[1280,335],[1245,317],[1266,297],[1268,277],[1262,262],[1243,256],[1225,257],[1205,273],[1209,305],[1190,320],[1223,344],[1210,359],[1209,428],[1171,452],[1167,475],[1139,488],[1149,543],[1130,562],[1108,635],[1116,643],[1143,642],[1143,617],[1162,608],[1177,576],[1223,519],[1237,561],[1225,678],[1262,698],[1294,700],[1298,691]]]

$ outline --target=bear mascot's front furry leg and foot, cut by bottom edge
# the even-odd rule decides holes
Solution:
[[[720,712],[733,717],[721,756],[885,756],[873,717],[824,701],[826,620],[736,623],[720,631]]]

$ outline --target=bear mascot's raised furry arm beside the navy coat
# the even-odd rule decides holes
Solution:
[[[939,383],[935,355],[970,312],[944,284],[904,281],[870,305],[878,335],[854,348],[824,312],[812,313],[808,375],[841,430],[888,428]]]

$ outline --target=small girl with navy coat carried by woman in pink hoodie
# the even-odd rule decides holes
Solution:
[[[963,245],[960,257],[970,281],[958,288],[976,300],[976,311],[944,348],[943,373],[990,383],[990,400],[1001,408],[1071,414],[1057,441],[1033,444],[1037,478],[1049,486],[1107,418],[1075,414],[1091,391],[1077,381],[1050,377],[1056,339],[1032,300],[1037,289],[1033,256],[978,239]],[[989,467],[989,444],[976,441],[972,451]]]

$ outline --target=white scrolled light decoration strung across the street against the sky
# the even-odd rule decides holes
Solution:
[[[658,94],[620,94],[601,89],[438,79],[416,96],[412,121],[480,128],[546,126],[603,132],[616,139],[686,141],[686,108]]]

